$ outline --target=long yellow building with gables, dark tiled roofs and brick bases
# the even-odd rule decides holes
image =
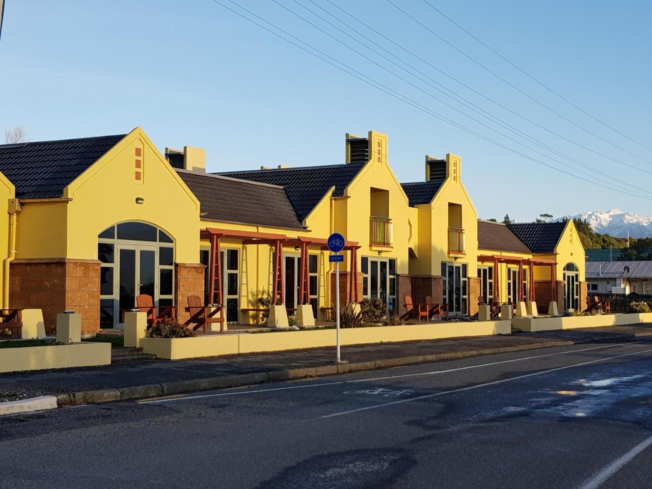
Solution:
[[[346,301],[378,297],[400,314],[405,295],[429,295],[473,315],[480,297],[578,308],[585,295],[572,222],[479,222],[460,156],[426,156],[425,180],[400,184],[377,132],[347,134],[344,164],[210,174],[203,150],[162,154],[136,128],[3,145],[0,172],[3,306],[42,308],[50,331],[63,310],[82,314],[83,333],[119,327],[141,294],[182,320],[200,295],[247,323],[264,290],[290,314],[310,304],[302,314],[327,319],[333,232],[346,238]]]

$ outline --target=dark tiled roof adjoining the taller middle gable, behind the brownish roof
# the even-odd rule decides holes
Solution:
[[[279,168],[278,170],[226,171],[215,174],[283,186],[299,220],[303,220],[331,186],[335,186],[333,195],[341,196],[346,186],[363,169],[363,166],[364,164],[351,163],[348,165]]]

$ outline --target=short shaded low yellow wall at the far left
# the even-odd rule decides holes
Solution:
[[[111,363],[110,343],[74,343],[0,349],[0,372],[44,370]]]

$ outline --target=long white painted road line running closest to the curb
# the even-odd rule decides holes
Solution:
[[[482,363],[482,364],[479,364],[479,365],[469,365],[469,366],[458,367],[458,368],[449,368],[447,370],[432,370],[431,372],[419,372],[417,374],[400,374],[400,375],[395,375],[395,376],[373,377],[373,378],[353,379],[353,380],[340,380],[340,381],[336,381],[336,382],[321,382],[321,383],[312,383],[312,384],[304,384],[304,385],[289,385],[289,386],[286,386],[286,387],[273,387],[272,389],[257,389],[255,391],[253,391],[253,390],[243,390],[243,391],[228,392],[228,393],[200,394],[198,396],[184,396],[184,397],[177,397],[177,398],[167,398],[167,399],[155,399],[155,400],[148,400],[148,401],[140,401],[140,402],[138,402],[138,404],[158,404],[160,402],[177,402],[177,401],[183,401],[183,400],[188,400],[188,399],[201,399],[201,398],[205,398],[205,397],[239,396],[239,395],[242,395],[242,394],[257,394],[257,393],[269,393],[269,392],[273,392],[273,391],[288,391],[290,389],[306,389],[308,387],[327,387],[329,385],[341,385],[341,384],[355,383],[355,382],[368,382],[368,381],[373,381],[373,380],[387,380],[387,379],[398,379],[398,378],[404,378],[404,377],[417,377],[417,376],[428,376],[428,375],[437,375],[437,374],[448,374],[450,372],[458,372],[460,370],[469,370],[471,368],[480,368],[480,367],[483,367],[483,366],[492,366],[492,365],[498,365],[498,364],[502,364],[502,363],[519,362],[519,361],[523,361],[523,360],[538,359],[538,358],[543,358],[543,357],[554,357],[555,355],[567,355],[568,353],[578,353],[580,351],[589,351],[589,350],[594,350],[594,349],[615,348],[617,346],[623,346],[623,345],[626,345],[626,344],[627,343],[615,343],[615,344],[604,345],[604,346],[593,346],[591,348],[573,349],[573,350],[568,350],[568,351],[557,351],[556,353],[546,353],[544,355],[533,355],[531,357],[520,357],[520,358],[510,359],[510,360],[500,360],[500,361],[496,361],[496,362]]]

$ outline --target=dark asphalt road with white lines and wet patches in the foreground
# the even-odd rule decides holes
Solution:
[[[0,488],[648,488],[652,344],[0,418]]]

